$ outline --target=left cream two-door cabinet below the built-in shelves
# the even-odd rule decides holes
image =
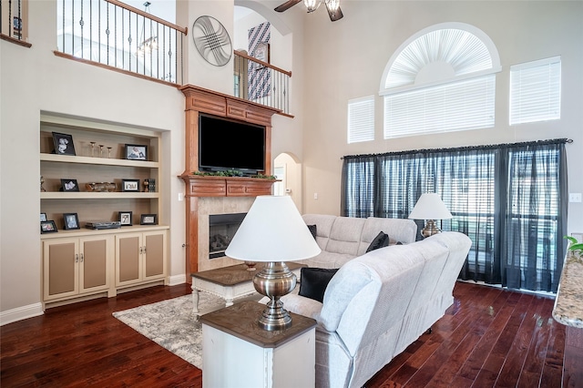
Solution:
[[[43,264],[45,301],[109,291],[113,236],[44,240]]]

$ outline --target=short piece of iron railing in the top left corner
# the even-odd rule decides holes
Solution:
[[[0,0],[0,37],[30,47],[31,45],[26,42],[27,15],[27,0]]]

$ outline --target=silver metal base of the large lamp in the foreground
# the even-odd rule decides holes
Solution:
[[[261,329],[273,332],[292,326],[292,317],[283,308],[280,298],[293,291],[296,281],[295,274],[281,261],[268,262],[255,274],[253,277],[255,290],[271,298],[259,319]]]

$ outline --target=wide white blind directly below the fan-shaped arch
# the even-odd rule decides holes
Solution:
[[[496,75],[384,97],[384,138],[493,128]]]

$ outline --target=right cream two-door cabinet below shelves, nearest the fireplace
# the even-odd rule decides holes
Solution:
[[[166,230],[116,236],[116,287],[163,279],[166,276]]]

